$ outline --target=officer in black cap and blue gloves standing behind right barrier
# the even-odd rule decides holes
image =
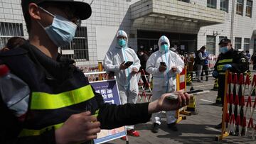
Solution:
[[[220,54],[218,60],[215,63],[213,70],[213,77],[218,78],[218,96],[221,97],[222,105],[224,104],[224,93],[225,93],[225,71],[243,73],[247,70],[248,62],[247,57],[234,50],[232,48],[231,40],[224,38],[220,40],[218,44],[220,46]],[[221,128],[222,123],[215,126],[215,128]]]

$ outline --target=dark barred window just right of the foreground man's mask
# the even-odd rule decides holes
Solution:
[[[79,27],[70,45],[61,48],[64,57],[75,60],[89,60],[87,28]]]

